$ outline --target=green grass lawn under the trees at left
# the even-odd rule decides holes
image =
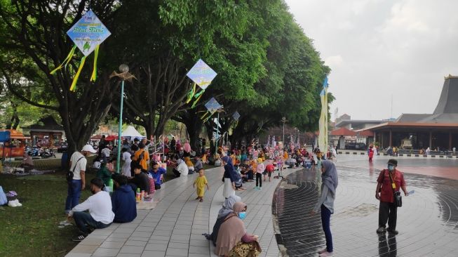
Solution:
[[[92,163],[88,160],[88,163]],[[60,169],[60,159],[34,161],[41,170]],[[86,172],[86,184],[95,172]],[[166,181],[173,179],[167,169]],[[18,193],[21,207],[3,206],[0,210],[0,256],[65,256],[78,244],[72,237],[78,235],[75,225],[58,228],[66,220],[64,213],[67,198],[65,172],[13,176],[0,174],[4,192]],[[80,202],[90,196],[90,190],[81,193]]]

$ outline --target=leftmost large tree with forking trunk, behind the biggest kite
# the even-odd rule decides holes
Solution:
[[[109,29],[116,27],[112,15],[118,2],[106,0],[92,3],[91,8]],[[113,92],[116,91],[116,81],[110,80],[109,74],[116,67],[119,53],[109,51],[109,46],[121,42],[110,38],[101,46],[99,76],[95,83],[89,80],[89,70],[92,69],[89,59],[76,91],[69,91],[81,53],[72,58],[66,69],[59,70],[55,75],[50,74],[72,48],[73,43],[66,32],[86,13],[88,5],[89,1],[85,0],[1,0],[0,5],[0,49],[15,56],[10,59],[2,56],[1,59],[1,73],[9,79],[8,90],[26,103],[60,114],[69,152],[80,150],[86,144],[99,121],[107,114]],[[22,60],[29,61],[31,72],[22,71]],[[108,64],[107,60],[111,62]],[[21,83],[23,80],[31,82],[34,87]],[[27,94],[29,91],[41,92],[41,98],[32,98]],[[42,100],[49,98],[53,101]]]

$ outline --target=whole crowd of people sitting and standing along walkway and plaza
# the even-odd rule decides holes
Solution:
[[[325,249],[318,251],[320,256],[331,256],[333,252],[332,234],[330,231],[330,217],[334,213],[334,201],[338,185],[337,152],[331,147],[328,153],[323,153],[319,148],[294,147],[252,147],[228,150],[220,147],[215,154],[208,150],[200,155],[192,156],[190,147],[184,151],[183,146],[171,145],[166,158],[150,156],[147,150],[146,140],[134,140],[133,143],[125,141],[121,145],[123,152],[123,168],[121,173],[114,173],[116,159],[109,147],[102,145],[99,155],[95,159],[94,167],[97,169],[96,178],[90,181],[90,190],[93,195],[79,204],[81,190],[86,187],[86,157],[97,151],[91,145],[85,145],[79,152],[72,154],[70,170],[73,173],[69,180],[67,202],[65,210],[69,220],[74,219],[81,235],[74,241],[83,240],[91,230],[106,228],[111,223],[130,222],[137,216],[135,191],[141,190],[145,194],[153,194],[161,189],[163,175],[167,166],[171,166],[175,177],[189,176],[198,173],[193,186],[196,189],[196,200],[203,202],[206,190],[210,190],[205,176],[204,164],[213,164],[224,167],[222,177],[224,204],[218,213],[213,231],[206,237],[215,244],[215,254],[218,256],[257,256],[261,249],[257,242],[257,235],[246,232],[243,219],[246,217],[248,206],[236,195],[236,191],[245,190],[243,183],[255,183],[254,190],[262,190],[264,182],[271,182],[272,177],[281,176],[281,171],[288,168],[304,166],[311,169],[312,166],[321,167],[322,185],[321,195],[312,211],[321,213],[323,232],[326,239]],[[183,154],[180,152],[183,151]],[[372,159],[375,149],[368,150],[369,158]],[[191,157],[194,162],[191,162]],[[218,162],[219,161],[219,162]],[[213,163],[210,163],[213,162]],[[388,169],[384,169],[377,178],[376,198],[380,201],[379,228],[377,233],[390,232],[397,234],[396,214],[398,206],[395,204],[393,193],[402,189],[405,195],[403,174],[396,169],[397,161],[390,159]],[[278,176],[274,176],[278,171]],[[114,192],[109,195],[106,187],[114,181]],[[269,183],[267,183],[269,184]],[[86,212],[88,211],[88,212]],[[386,223],[389,227],[386,228]]]

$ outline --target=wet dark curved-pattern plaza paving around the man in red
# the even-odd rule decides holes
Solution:
[[[354,158],[354,157],[353,157]],[[339,187],[331,230],[335,256],[458,256],[458,180],[405,173],[408,190],[398,209],[396,237],[377,235],[378,202],[375,187],[379,169],[365,159],[339,159]],[[443,160],[445,161],[445,160]],[[386,163],[380,158],[376,162]],[[431,175],[457,162],[432,164]],[[400,160],[403,171],[415,160]],[[383,166],[383,165],[382,165]],[[455,166],[456,167],[456,166]],[[454,169],[458,173],[458,168]],[[317,256],[325,241],[318,215],[311,215],[321,185],[318,171],[296,171],[278,185],[272,211],[278,217],[278,244],[289,256]],[[297,185],[297,188],[290,185]]]

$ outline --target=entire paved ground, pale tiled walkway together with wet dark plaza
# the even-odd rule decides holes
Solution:
[[[331,216],[335,256],[458,256],[458,180],[441,178],[458,173],[458,160],[399,157],[398,169],[406,172],[408,190],[415,194],[404,197],[398,209],[399,235],[379,237],[375,180],[387,159],[377,157],[369,165],[364,156],[339,155]],[[197,175],[166,182],[156,191],[156,208],[138,211],[132,223],[95,230],[67,256],[215,256],[213,244],[201,234],[212,230],[224,200],[223,172],[222,167],[206,171],[210,191],[203,203],[194,200]],[[320,174],[287,169],[283,175],[285,180],[274,179],[262,190],[245,183],[248,190],[236,193],[248,204],[247,230],[260,235],[261,256],[318,256],[324,234],[319,216],[310,211],[318,198]]]

